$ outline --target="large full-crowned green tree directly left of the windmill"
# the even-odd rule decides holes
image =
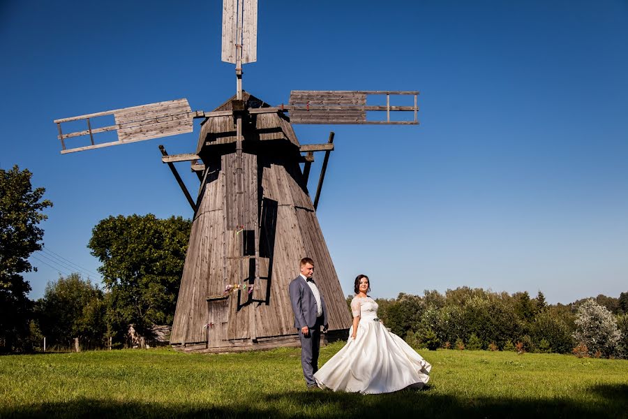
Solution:
[[[103,264],[109,334],[121,337],[128,325],[144,336],[151,325],[174,318],[191,221],[153,214],[110,216],[92,230],[88,247]]]

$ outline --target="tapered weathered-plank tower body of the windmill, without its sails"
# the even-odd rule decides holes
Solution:
[[[330,330],[343,335],[350,327],[345,297],[299,167],[297,138],[278,115],[264,115],[275,117],[275,125],[266,122],[244,131],[240,189],[235,183],[237,154],[230,141],[223,141],[233,136],[233,119],[204,123],[199,155],[205,172],[172,327],[175,348],[241,351],[298,343],[288,286],[304,256],[315,260]],[[260,142],[268,133],[274,141]],[[237,190],[241,197],[234,196]],[[243,206],[242,225],[237,225],[235,205]],[[260,226],[257,282],[251,243],[255,221]],[[217,300],[227,284],[254,288],[250,294],[247,288]]]

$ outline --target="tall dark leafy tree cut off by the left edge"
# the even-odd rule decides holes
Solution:
[[[33,251],[41,250],[47,219],[43,210],[52,207],[42,200],[44,188],[33,190],[32,173],[0,169],[0,350],[24,350],[29,335],[32,302],[27,297],[31,286],[22,273],[36,270],[29,263]]]

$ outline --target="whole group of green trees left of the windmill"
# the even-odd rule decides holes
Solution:
[[[42,249],[52,207],[44,188],[33,189],[32,173],[0,169],[0,352],[43,346],[102,348],[129,344],[128,330],[151,337],[154,325],[170,325],[188,247],[191,221],[110,216],[92,230],[88,247],[100,260],[102,286],[74,273],[49,281],[42,298],[29,300],[24,272],[35,271],[29,256]]]

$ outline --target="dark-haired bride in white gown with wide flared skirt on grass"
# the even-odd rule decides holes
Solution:
[[[377,318],[377,303],[366,275],[355,279],[353,325],[347,344],[323,365],[314,379],[334,391],[386,393],[428,382],[432,366]]]

